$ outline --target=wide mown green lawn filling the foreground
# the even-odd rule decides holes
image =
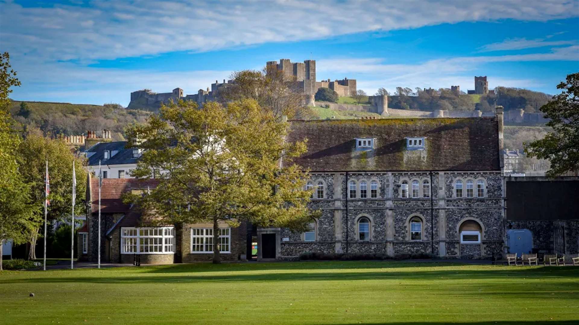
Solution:
[[[577,324],[579,268],[332,261],[4,271],[0,308],[0,324]]]

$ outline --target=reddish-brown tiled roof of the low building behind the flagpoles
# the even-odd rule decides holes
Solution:
[[[131,189],[146,189],[156,187],[157,179],[135,178],[105,178],[102,179],[101,187],[101,213],[126,213],[130,209],[129,204],[124,204],[122,194]],[[98,212],[98,178],[90,179],[90,200],[92,212]]]

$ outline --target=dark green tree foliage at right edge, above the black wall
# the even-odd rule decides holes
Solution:
[[[527,156],[551,162],[549,177],[579,169],[579,72],[567,75],[557,88],[563,91],[541,106],[541,112],[550,119],[547,126],[553,131],[525,144]]]

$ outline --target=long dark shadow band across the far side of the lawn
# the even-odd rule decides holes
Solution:
[[[129,271],[132,271],[130,269]],[[135,271],[137,271],[135,269]],[[249,271],[249,270],[248,270]],[[383,271],[372,272],[267,272],[261,273],[236,272],[222,270],[214,274],[190,272],[183,275],[148,275],[149,273],[131,272],[131,276],[120,276],[111,272],[110,276],[54,276],[27,279],[5,279],[2,283],[200,283],[200,282],[283,282],[283,281],[332,281],[332,280],[489,280],[514,279],[521,283],[525,279],[563,279],[579,278],[577,268],[510,268],[510,269],[449,269],[437,271],[402,272]],[[61,273],[60,275],[65,275]],[[536,283],[535,283],[536,284]],[[552,283],[549,283],[552,285]],[[569,289],[569,283],[565,286]],[[579,282],[575,289],[579,289]],[[573,289],[571,289],[573,290]]]

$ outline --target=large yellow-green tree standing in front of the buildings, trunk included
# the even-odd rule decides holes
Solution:
[[[155,175],[160,184],[148,195],[128,195],[163,224],[211,222],[219,243],[219,222],[305,230],[313,216],[303,171],[290,164],[306,143],[284,142],[288,123],[255,100],[223,106],[193,102],[163,106],[146,125],[127,129],[130,146],[144,150],[133,175]],[[284,161],[283,167],[280,167]],[[220,263],[219,245],[213,262]]]

